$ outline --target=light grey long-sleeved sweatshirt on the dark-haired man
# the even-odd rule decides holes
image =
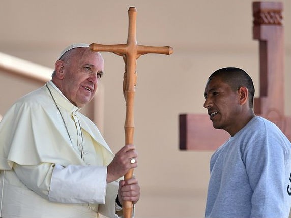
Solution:
[[[211,157],[205,217],[288,217],[291,143],[256,116]]]

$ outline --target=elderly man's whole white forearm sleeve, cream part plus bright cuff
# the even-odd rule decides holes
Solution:
[[[106,167],[42,163],[37,166],[14,164],[19,179],[31,190],[60,203],[105,203]],[[29,176],[27,176],[29,175]]]

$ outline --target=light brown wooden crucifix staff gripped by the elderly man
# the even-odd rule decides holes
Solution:
[[[126,118],[125,118],[125,144],[133,144],[134,135],[134,94],[136,84],[136,60],[143,54],[158,53],[170,55],[173,49],[170,46],[154,47],[138,45],[136,42],[136,8],[130,7],[128,10],[129,27],[126,44],[118,45],[101,45],[92,43],[90,49],[94,52],[108,51],[123,56],[125,61],[125,73],[123,81],[123,93],[126,101]],[[132,178],[133,169],[125,174],[125,180]],[[123,215],[125,218],[132,217],[132,202],[123,202]]]

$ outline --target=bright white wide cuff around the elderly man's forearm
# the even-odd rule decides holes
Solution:
[[[63,167],[56,164],[52,172],[48,198],[50,201],[61,203],[105,204],[106,175],[106,167]]]

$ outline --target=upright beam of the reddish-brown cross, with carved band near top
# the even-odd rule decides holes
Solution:
[[[284,28],[281,2],[253,3],[253,38],[259,40],[260,97],[254,112],[271,120],[291,139],[290,117],[284,115]]]

